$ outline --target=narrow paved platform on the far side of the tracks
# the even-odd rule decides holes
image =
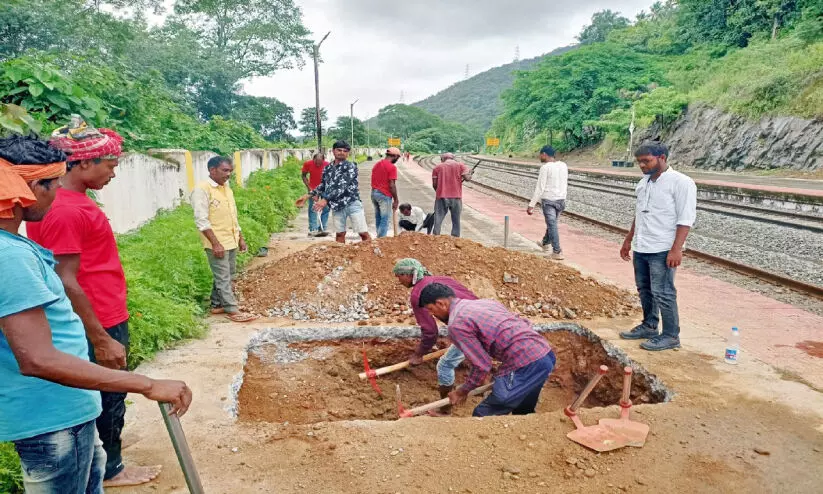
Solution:
[[[523,165],[537,166],[537,161],[527,161],[523,159],[503,158],[500,156],[485,156],[490,160],[511,161]],[[635,166],[633,171],[621,170],[619,168],[607,167],[569,167],[571,171],[603,173],[606,175],[618,175],[623,177],[640,178],[640,170]],[[823,180],[787,177],[762,177],[757,175],[746,175],[743,173],[722,173],[701,170],[681,170],[686,175],[692,177],[700,185],[714,185],[722,187],[738,187],[741,189],[801,194],[807,196],[823,197]]]

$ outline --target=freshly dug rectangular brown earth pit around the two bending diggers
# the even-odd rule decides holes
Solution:
[[[634,369],[631,398],[635,404],[661,403],[672,393],[656,376],[621,350],[589,330],[569,323],[536,325],[557,354],[557,365],[540,397],[538,413],[560,410],[573,400],[601,364],[609,373],[584,403],[584,407],[617,404],[622,369]],[[362,349],[373,369],[406,360],[414,350],[417,328],[285,328],[258,334],[248,347],[244,374],[235,389],[234,407],[240,420],[311,424],[338,420],[394,420],[398,418],[395,385],[403,405],[411,408],[439,399],[436,361],[377,378],[384,396],[368,380],[361,380]],[[448,340],[442,338],[438,347]],[[468,369],[457,370],[461,383]],[[470,416],[480,398],[455,408],[457,417]]]

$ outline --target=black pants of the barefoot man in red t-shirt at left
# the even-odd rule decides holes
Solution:
[[[117,326],[106,328],[106,332],[126,347],[126,355],[129,354],[129,322],[124,321]],[[94,348],[89,342],[89,359],[95,362]],[[128,370],[123,368],[122,370]],[[106,473],[103,479],[109,480],[123,471],[123,456],[120,453],[122,447],[120,434],[123,432],[123,425],[126,417],[126,393],[100,392],[103,401],[103,413],[97,417],[97,433],[103,441],[103,449],[106,451]]]

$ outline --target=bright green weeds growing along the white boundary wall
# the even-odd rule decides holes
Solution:
[[[241,266],[294,217],[294,201],[304,188],[300,163],[289,158],[281,168],[252,173],[244,188],[235,189],[240,227],[249,244],[249,254],[239,258]],[[211,272],[191,206],[158,214],[119,236],[117,244],[129,289],[129,368],[175,342],[203,336]],[[11,444],[0,443],[0,494],[22,492],[17,453]]]

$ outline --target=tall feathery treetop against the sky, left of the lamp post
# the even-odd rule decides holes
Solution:
[[[178,0],[174,10],[231,64],[237,80],[302,66],[311,46],[292,0]]]

